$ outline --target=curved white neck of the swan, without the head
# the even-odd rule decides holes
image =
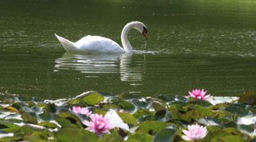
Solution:
[[[121,33],[121,41],[123,44],[123,49],[125,49],[125,52],[133,52],[133,47],[131,46],[131,43],[128,40],[128,32],[133,28],[133,24],[126,24],[125,27],[123,27],[122,33]]]

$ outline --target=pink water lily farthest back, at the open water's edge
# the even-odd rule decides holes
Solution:
[[[195,100],[208,100],[208,98],[210,97],[210,95],[206,95],[207,90],[200,90],[200,89],[195,89],[192,91],[188,91],[188,93],[190,95],[185,96],[185,98],[195,98]]]

